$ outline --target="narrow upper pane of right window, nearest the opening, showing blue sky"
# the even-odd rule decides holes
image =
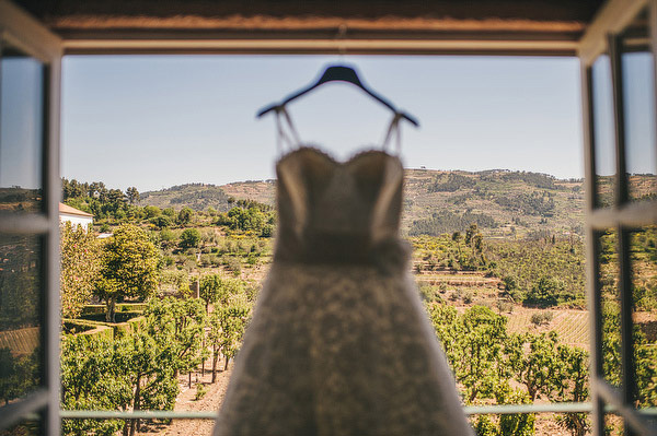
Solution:
[[[593,62],[591,90],[597,205],[606,208],[613,203],[616,173],[613,94],[608,55],[601,55]]]

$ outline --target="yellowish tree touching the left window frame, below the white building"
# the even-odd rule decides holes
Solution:
[[[101,267],[100,246],[82,226],[67,222],[59,227],[62,318],[77,318],[91,297]]]

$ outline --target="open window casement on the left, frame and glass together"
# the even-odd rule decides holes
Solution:
[[[0,431],[56,434],[60,50],[4,2],[0,26]]]

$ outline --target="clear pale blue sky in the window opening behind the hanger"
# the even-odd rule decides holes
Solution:
[[[66,57],[62,175],[140,191],[274,178],[274,117],[255,113],[335,62],[419,119],[403,126],[406,167],[583,177],[577,59],[374,56]],[[343,83],[289,110],[342,160],[378,146],[390,119]]]

